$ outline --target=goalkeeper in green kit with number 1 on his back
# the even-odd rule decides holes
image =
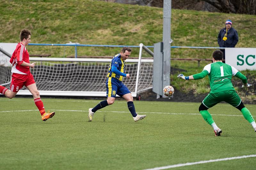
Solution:
[[[244,118],[252,124],[252,127],[256,132],[256,123],[250,111],[244,106],[242,100],[237,95],[231,82],[232,76],[234,75],[242,80],[242,88],[248,88],[252,85],[247,83],[247,78],[236,68],[222,63],[223,53],[220,50],[214,51],[212,57],[213,63],[206,65],[201,73],[190,76],[179,74],[177,77],[183,80],[198,80],[204,78],[206,75],[209,76],[211,91],[199,106],[199,112],[204,120],[212,126],[215,136],[220,136],[222,131],[214,123],[212,116],[207,109],[222,101],[227,102],[240,110],[244,115]]]

